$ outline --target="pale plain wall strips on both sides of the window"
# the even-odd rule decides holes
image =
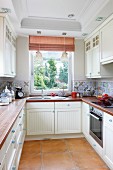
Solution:
[[[30,58],[29,58],[29,38],[17,38],[17,76],[18,81],[29,81],[30,83]],[[72,61],[72,80],[85,79],[84,66],[84,41],[81,39],[75,40],[75,56]],[[30,84],[29,84],[30,90]]]

